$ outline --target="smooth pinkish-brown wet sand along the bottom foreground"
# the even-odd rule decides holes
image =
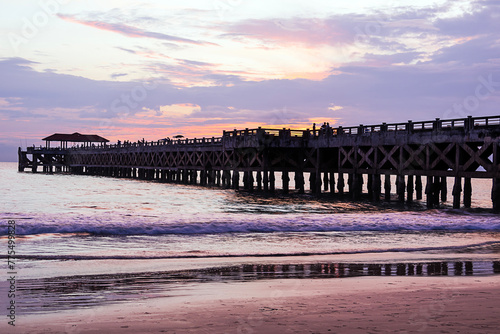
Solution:
[[[498,276],[202,283],[166,297],[19,315],[16,330],[7,329],[12,333],[494,333],[499,295]]]

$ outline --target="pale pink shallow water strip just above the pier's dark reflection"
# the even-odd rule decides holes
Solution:
[[[496,232],[495,232],[496,233]],[[498,241],[494,241],[498,244]],[[498,248],[498,247],[497,247]],[[453,250],[453,249],[451,249]],[[449,274],[453,275],[456,262],[485,263],[488,274],[500,272],[498,250],[490,253],[470,253],[456,251],[443,252],[353,252],[351,254],[317,254],[295,256],[234,256],[199,258],[150,258],[150,259],[52,259],[19,261],[24,279],[52,279],[57,277],[99,276],[99,275],[140,275],[142,273],[162,273],[181,271],[203,271],[204,269],[237,267],[245,265],[314,265],[314,264],[360,264],[392,265],[447,263]],[[463,266],[465,269],[465,265]],[[367,270],[367,268],[365,268]],[[365,270],[365,271],[366,271]],[[474,275],[478,274],[474,266]]]

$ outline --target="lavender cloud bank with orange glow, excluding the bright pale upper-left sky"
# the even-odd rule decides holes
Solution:
[[[26,58],[2,59],[0,151],[54,132],[157,140],[178,133],[212,136],[235,127],[307,127],[321,120],[350,126],[496,115],[500,5],[473,5],[447,18],[436,7],[390,17],[247,19],[213,27],[221,41],[244,44],[248,52],[341,48],[347,61],[332,65],[322,80],[256,80],[247,68],[223,70],[202,58],[170,57],[169,63],[147,63],[151,79],[118,82],[37,71],[37,63]],[[131,38],[204,43],[121,24],[80,23]],[[176,75],[186,84],[173,80]],[[109,77],[128,78],[126,71]]]

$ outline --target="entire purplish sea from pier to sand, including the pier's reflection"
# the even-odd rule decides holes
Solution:
[[[428,210],[421,201],[34,174],[0,163],[0,303],[5,311],[10,278],[22,316],[189,294],[207,283],[499,275],[500,215],[490,194],[491,180],[473,180],[472,209],[453,209],[448,198]]]

